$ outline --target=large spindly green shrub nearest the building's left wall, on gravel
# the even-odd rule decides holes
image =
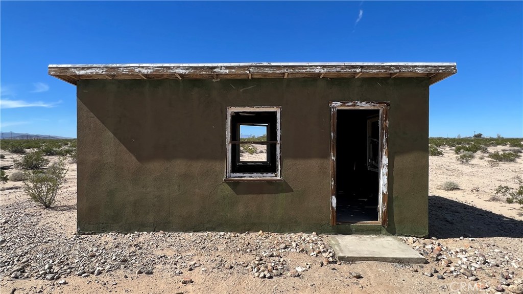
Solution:
[[[61,157],[45,171],[26,171],[24,190],[27,195],[43,207],[51,207],[60,187],[65,183],[65,157]]]

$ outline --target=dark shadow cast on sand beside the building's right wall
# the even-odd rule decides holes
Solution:
[[[440,196],[428,197],[429,237],[523,238],[523,221]]]

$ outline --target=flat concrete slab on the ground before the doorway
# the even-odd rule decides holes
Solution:
[[[340,261],[426,263],[425,257],[395,236],[333,235],[329,242]]]

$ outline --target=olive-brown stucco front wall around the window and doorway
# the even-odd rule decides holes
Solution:
[[[78,231],[426,235],[428,87],[426,78],[79,81]],[[390,102],[387,228],[329,225],[329,101],[355,100]],[[223,182],[228,106],[281,106],[284,182]]]

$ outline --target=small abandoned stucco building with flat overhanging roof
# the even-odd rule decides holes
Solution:
[[[79,232],[428,233],[455,63],[49,65],[77,88]]]

